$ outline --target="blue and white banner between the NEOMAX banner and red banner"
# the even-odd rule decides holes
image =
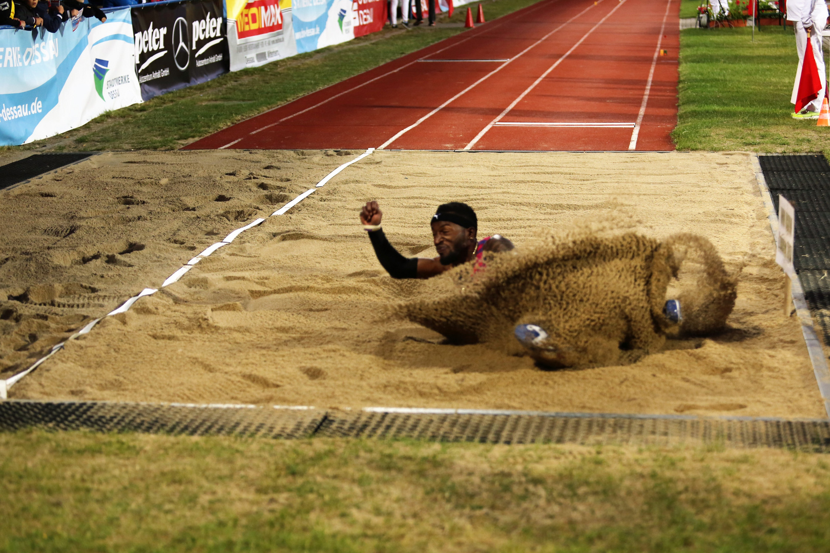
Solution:
[[[293,0],[297,53],[310,52],[354,38],[352,0]]]

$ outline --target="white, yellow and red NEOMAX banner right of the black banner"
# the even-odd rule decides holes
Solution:
[[[250,0],[235,20],[228,16],[227,48],[232,71],[294,56],[291,0]]]

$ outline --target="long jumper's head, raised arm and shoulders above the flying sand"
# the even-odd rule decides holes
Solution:
[[[360,211],[360,222],[369,232],[374,253],[393,279],[428,279],[473,260],[476,262],[473,270],[478,271],[485,267],[483,258],[486,252],[513,250],[513,243],[500,235],[477,240],[476,211],[460,201],[438,206],[432,216],[432,243],[438,252],[438,256],[432,259],[403,257],[383,234],[380,225],[382,218],[377,201],[366,202]]]

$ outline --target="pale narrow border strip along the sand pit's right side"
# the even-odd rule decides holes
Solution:
[[[767,180],[764,178],[764,172],[761,170],[761,164],[758,160],[758,154],[753,153],[752,167],[755,172],[755,180],[758,182],[758,187],[761,191],[761,197],[764,199],[764,207],[767,210],[767,219],[769,220],[769,229],[772,230],[773,240],[778,240],[778,216],[775,214],[775,206],[773,204],[772,195],[769,193],[767,187]],[[776,242],[776,245],[777,242]],[[816,383],[818,384],[818,391],[824,400],[824,410],[830,417],[830,369],[828,369],[827,360],[824,358],[824,348],[822,342],[816,334],[816,329],[813,326],[813,317],[810,315],[810,308],[807,300],[804,298],[804,290],[801,287],[801,280],[798,276],[792,279],[793,282],[793,305],[795,306],[795,313],[798,315],[798,321],[801,323],[801,332],[804,336],[804,342],[807,344],[807,351],[810,355],[810,362],[813,364],[813,375],[816,376]]]

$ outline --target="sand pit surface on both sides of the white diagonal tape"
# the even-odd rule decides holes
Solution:
[[[108,153],[0,193],[2,376],[346,159]],[[476,208],[480,235],[498,232],[519,248],[541,229],[585,221],[657,240],[706,236],[727,269],[740,270],[730,328],[583,370],[544,371],[530,357],[449,345],[386,314],[430,283],[384,273],[357,221],[370,199],[405,255],[434,255],[427,221],[451,200]],[[11,395],[823,417],[798,321],[779,313],[773,258],[745,154],[374,153],[290,215],[70,342]]]

